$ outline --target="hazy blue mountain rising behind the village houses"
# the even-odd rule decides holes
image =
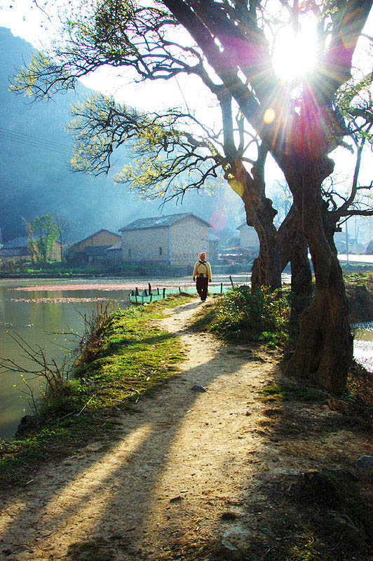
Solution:
[[[117,231],[140,217],[195,212],[204,219],[233,232],[242,204],[229,187],[219,187],[215,196],[188,194],[182,207],[168,203],[159,210],[158,202],[138,201],[126,185],[115,185],[112,177],[93,177],[68,169],[72,138],[64,127],[70,120],[69,107],[90,95],[83,85],[78,93],[55,97],[48,103],[27,102],[8,91],[8,78],[29,61],[33,47],[0,27],[0,227],[3,241],[24,236],[22,217],[58,214],[74,222],[72,237],[78,239],[107,228]],[[118,156],[123,162],[125,156]],[[120,168],[114,168],[113,173]],[[218,210],[218,208],[220,210]],[[217,233],[217,232],[215,232]]]

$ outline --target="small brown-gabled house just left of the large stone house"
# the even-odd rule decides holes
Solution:
[[[119,234],[101,229],[70,245],[67,259],[74,264],[102,263],[107,261],[107,250],[121,241]]]

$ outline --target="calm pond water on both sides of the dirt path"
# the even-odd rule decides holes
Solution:
[[[215,282],[229,283],[228,276]],[[250,276],[234,275],[235,283],[245,283]],[[290,276],[283,281],[289,283]],[[151,279],[156,288],[191,287],[190,278]],[[11,358],[22,367],[32,367],[13,337],[21,337],[33,347],[46,350],[48,358],[62,361],[76,346],[76,339],[58,332],[82,334],[85,314],[98,306],[128,306],[128,295],[135,287],[145,288],[144,279],[85,278],[72,280],[2,279],[0,280],[0,357]],[[355,334],[355,358],[373,371],[373,324],[362,325]],[[30,379],[36,395],[40,380]],[[15,387],[14,387],[15,386]],[[21,417],[30,412],[26,388],[18,372],[0,372],[0,438],[11,438]]]

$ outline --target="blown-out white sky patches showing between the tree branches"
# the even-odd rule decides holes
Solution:
[[[43,42],[48,41],[46,28],[51,26],[46,19],[46,15],[33,6],[32,0],[15,0],[13,2],[14,8],[10,8],[9,4],[10,2],[0,0],[0,26],[9,27],[14,35],[29,41],[36,48],[42,48]],[[55,6],[56,4],[60,4],[60,2],[55,3]],[[42,5],[43,2],[41,2]],[[54,14],[49,13],[53,20],[57,8],[54,8],[54,11]],[[367,22],[366,30],[368,34],[369,30],[373,30],[373,14]],[[313,49],[311,46],[314,36],[315,29],[311,22],[304,24],[301,36],[297,38],[294,38],[292,33],[278,36],[278,55],[274,62],[283,79],[291,79],[294,72],[300,72],[312,66]],[[362,50],[358,54],[359,62],[367,60],[367,68],[371,69],[371,59],[364,54],[367,48],[367,40],[362,40],[360,44]],[[123,78],[118,69],[102,68],[82,81],[89,88],[100,90],[107,95],[114,95],[119,102],[125,102],[144,110],[169,107],[170,100],[172,100],[173,105],[185,106],[185,104],[188,104],[192,108],[206,107],[205,104],[208,100],[198,79],[191,81],[190,77],[184,79],[180,76],[177,81],[134,84],[128,78]],[[336,167],[342,170],[342,175],[351,174],[354,165],[353,156],[346,150],[341,149],[339,152],[340,154],[333,156],[337,163]],[[372,168],[373,156],[372,153],[367,151],[363,160],[361,181],[370,182]],[[278,177],[278,168],[272,162],[267,170],[267,179],[272,182]]]

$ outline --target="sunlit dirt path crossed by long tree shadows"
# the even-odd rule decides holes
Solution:
[[[115,445],[103,434],[3,499],[1,559],[134,561],[212,540],[239,551],[241,541],[271,532],[276,478],[320,466],[330,454],[339,466],[369,453],[345,428],[323,433],[320,450],[319,431],[300,438],[289,415],[279,424],[283,407],[258,400],[259,388],[280,376],[276,353],[189,332],[200,305],[172,309],[162,321],[188,358],[179,376],[121,418]],[[321,405],[297,410],[301,423],[316,414],[327,422],[339,416]]]

